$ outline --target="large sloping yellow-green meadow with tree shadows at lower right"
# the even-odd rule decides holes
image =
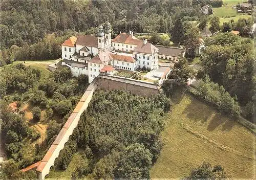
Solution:
[[[255,136],[190,95],[174,97],[151,177],[180,178],[206,161],[221,164],[232,178],[255,179]]]

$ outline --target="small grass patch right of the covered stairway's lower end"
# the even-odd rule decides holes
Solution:
[[[72,172],[75,170],[80,160],[82,160],[81,152],[76,152],[66,171],[58,170],[53,166],[46,179],[71,179]]]

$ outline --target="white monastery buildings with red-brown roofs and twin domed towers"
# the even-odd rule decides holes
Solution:
[[[97,36],[70,37],[61,44],[61,50],[62,65],[68,66],[73,76],[88,75],[89,83],[100,73],[158,69],[158,48],[146,39],[137,39],[131,31],[129,34],[120,32],[112,40],[109,22],[104,28],[99,26]]]

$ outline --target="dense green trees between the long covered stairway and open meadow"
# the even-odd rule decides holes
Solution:
[[[72,178],[150,178],[170,105],[162,95],[146,98],[124,91],[97,91],[55,166],[67,169],[80,148],[83,160]]]

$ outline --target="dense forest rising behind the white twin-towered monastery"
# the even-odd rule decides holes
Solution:
[[[210,8],[219,7],[219,3],[222,4],[219,0],[128,2],[35,0],[31,3],[29,0],[2,0],[0,66],[16,59],[57,59],[61,55],[60,44],[67,37],[79,33],[95,34],[96,27],[107,20],[112,24],[112,38],[119,31],[132,30],[134,33],[168,33],[169,37],[173,37],[160,43],[165,45],[169,44],[169,40],[177,45],[179,42],[183,44],[184,40],[193,42],[197,35],[194,39],[185,39],[195,32],[195,28],[192,31],[186,30],[186,22],[198,21],[206,26],[207,18],[202,14],[201,7],[206,4],[210,5]],[[181,23],[185,24],[184,27]],[[231,25],[225,26],[225,31],[232,29]],[[233,28],[235,27],[237,26]],[[184,34],[186,32],[187,34]],[[197,41],[193,46],[197,45]],[[191,44],[185,46],[191,48]]]

